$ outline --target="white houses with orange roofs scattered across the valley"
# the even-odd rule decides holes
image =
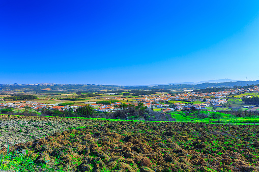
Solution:
[[[222,107],[222,104],[225,104],[227,102],[226,96],[228,95],[234,95],[237,93],[245,93],[245,92],[258,92],[259,87],[254,87],[253,89],[236,89],[236,90],[225,90],[225,91],[219,91],[219,92],[211,92],[211,93],[196,93],[196,92],[186,92],[186,93],[177,93],[175,95],[171,94],[164,94],[164,95],[157,95],[157,94],[151,94],[151,95],[142,95],[139,98],[135,98],[136,101],[142,102],[144,106],[148,108],[161,108],[162,112],[170,112],[170,111],[181,111],[183,109],[191,109],[192,107],[196,109],[206,109],[206,107],[209,106],[215,106],[218,108]],[[104,99],[109,99],[107,97],[102,97]],[[124,100],[124,97],[115,97],[115,99],[118,100],[118,102],[114,102],[111,105],[102,105],[102,104],[96,104],[95,102],[90,104],[95,108],[95,111],[99,112],[112,112],[116,110],[121,110],[120,105],[121,101]],[[166,104],[167,101],[176,100],[178,102],[175,102],[174,108],[170,108],[168,104]],[[202,100],[202,104],[192,104],[191,102]],[[188,102],[188,103],[185,103]],[[88,104],[88,103],[86,103]],[[126,103],[128,105],[130,103]],[[137,106],[137,104],[133,104]],[[66,110],[66,109],[73,109],[75,111],[76,108],[83,106],[83,105],[70,105],[70,106],[57,106],[57,105],[47,105],[42,104],[40,102],[33,102],[33,101],[17,101],[17,102],[2,102],[0,103],[0,109],[3,109],[5,107],[11,107],[15,109],[22,109],[24,107],[31,107],[32,109],[36,111],[41,111],[43,108],[47,108],[50,110]]]

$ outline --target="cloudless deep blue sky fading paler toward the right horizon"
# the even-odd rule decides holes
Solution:
[[[259,1],[0,1],[0,83],[259,79]]]

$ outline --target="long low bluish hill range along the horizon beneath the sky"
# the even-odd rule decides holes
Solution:
[[[201,81],[203,82],[203,81]],[[103,90],[152,90],[152,89],[166,89],[166,90],[196,90],[212,87],[234,87],[246,85],[259,84],[256,81],[236,81],[236,82],[206,82],[200,84],[168,84],[155,86],[118,86],[118,85],[95,85],[95,84],[0,84],[1,91],[23,91],[24,93],[64,93],[64,92],[98,92]]]

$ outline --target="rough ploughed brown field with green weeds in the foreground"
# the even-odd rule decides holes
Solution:
[[[3,170],[22,167],[27,171],[259,170],[257,125],[4,115],[0,118],[2,125],[19,121],[23,126],[31,126],[29,122],[34,121],[48,129],[56,124],[67,126],[67,130],[44,133],[40,138],[3,148],[0,151]],[[54,125],[46,125],[53,121]],[[16,137],[22,135],[18,133],[23,133],[23,128],[22,132],[15,131]],[[24,137],[29,138],[26,134]]]

